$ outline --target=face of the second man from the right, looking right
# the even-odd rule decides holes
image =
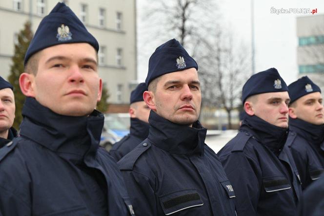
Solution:
[[[277,127],[288,128],[288,92],[269,92],[256,96],[256,100],[251,102],[252,114]]]

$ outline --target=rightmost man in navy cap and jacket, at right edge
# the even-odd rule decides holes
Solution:
[[[305,189],[324,172],[323,98],[320,87],[306,76],[288,88],[290,131],[286,145],[291,149]]]

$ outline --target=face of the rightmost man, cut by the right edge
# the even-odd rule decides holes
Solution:
[[[314,125],[324,124],[323,98],[320,92],[306,94],[289,107],[289,116]]]

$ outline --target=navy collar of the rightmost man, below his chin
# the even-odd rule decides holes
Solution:
[[[314,125],[299,118],[289,118],[289,127],[312,144],[321,145],[324,142],[324,125]]]

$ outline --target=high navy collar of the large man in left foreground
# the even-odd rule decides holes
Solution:
[[[89,116],[64,116],[27,97],[22,108],[20,136],[27,137],[73,163],[97,153],[103,115],[94,110]]]

